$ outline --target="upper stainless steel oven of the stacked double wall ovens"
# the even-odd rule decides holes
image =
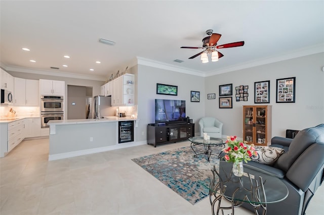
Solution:
[[[58,112],[63,110],[63,96],[42,95],[41,112]]]

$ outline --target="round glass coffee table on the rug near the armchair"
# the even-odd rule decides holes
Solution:
[[[209,159],[210,159],[211,155],[219,156],[219,154],[213,154],[212,153],[212,147],[213,146],[219,146],[219,147],[222,147],[222,148],[225,147],[225,143],[223,142],[223,140],[221,138],[211,137],[210,140],[204,140],[204,137],[189,137],[188,140],[191,142],[191,144],[190,144],[191,149],[195,153],[193,156],[197,157],[199,154],[207,154],[208,162],[209,162]],[[197,152],[192,147],[192,146],[195,146],[195,145],[204,146],[204,152],[197,154]]]

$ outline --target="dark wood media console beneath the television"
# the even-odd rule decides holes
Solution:
[[[183,123],[176,125],[147,125],[147,144],[161,145],[165,143],[188,140],[194,137],[194,124]]]

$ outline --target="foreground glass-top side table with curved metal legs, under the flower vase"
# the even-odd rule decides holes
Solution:
[[[284,182],[275,176],[269,175],[266,171],[245,165],[244,175],[237,177],[232,174],[232,163],[220,161],[219,172],[215,166],[212,170],[213,177],[209,185],[210,202],[212,214],[219,214],[219,211],[231,210],[234,215],[234,208],[247,202],[254,207],[255,214],[262,208],[262,214],[267,213],[267,204],[285,200],[289,194]],[[207,187],[207,185],[204,185]],[[231,206],[221,206],[222,199],[230,201]],[[215,213],[215,205],[217,210]]]

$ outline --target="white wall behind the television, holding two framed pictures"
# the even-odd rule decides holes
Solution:
[[[155,122],[155,98],[186,100],[186,116],[193,119],[194,123],[205,115],[204,77],[138,65],[137,82],[139,119],[137,141],[147,140],[147,124]],[[156,83],[178,86],[178,95],[156,94]],[[191,90],[200,91],[200,102],[190,102]],[[196,124],[195,132],[198,132],[198,129]]]

